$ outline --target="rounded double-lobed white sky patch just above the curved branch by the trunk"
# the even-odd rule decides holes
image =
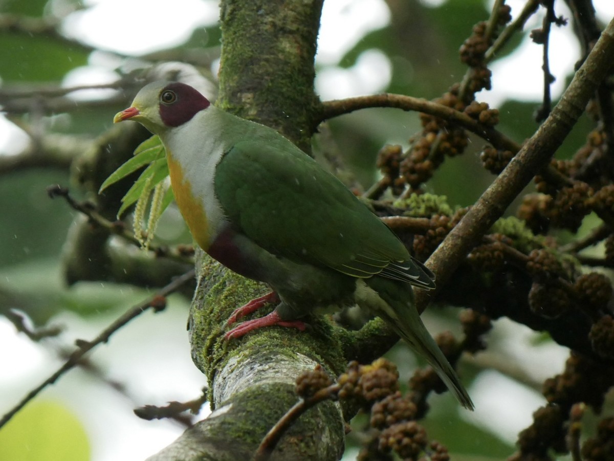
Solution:
[[[317,72],[316,92],[322,99],[371,95],[385,90],[391,76],[388,56],[378,49],[367,50],[349,69],[332,66]]]

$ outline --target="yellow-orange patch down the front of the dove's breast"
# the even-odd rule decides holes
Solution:
[[[167,153],[166,160],[168,161],[169,176],[171,176],[171,185],[179,211],[181,211],[196,243],[203,250],[207,250],[209,244],[211,244],[209,242],[211,235],[209,234],[209,223],[203,204],[193,195],[192,184],[185,178],[179,162],[170,153]]]

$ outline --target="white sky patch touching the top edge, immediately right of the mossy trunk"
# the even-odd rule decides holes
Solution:
[[[390,23],[384,0],[325,1],[317,39],[317,64],[337,64],[371,31]]]

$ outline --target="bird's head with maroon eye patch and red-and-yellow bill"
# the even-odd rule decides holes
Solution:
[[[131,106],[115,114],[113,122],[134,120],[153,134],[160,134],[192,120],[210,105],[209,100],[190,85],[153,82],[141,88]]]

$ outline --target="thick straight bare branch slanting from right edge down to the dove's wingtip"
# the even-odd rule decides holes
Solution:
[[[446,284],[468,252],[480,241],[481,236],[529,184],[535,172],[548,164],[583,114],[586,103],[593,97],[599,83],[607,76],[612,62],[614,19],[605,28],[548,119],[430,256],[427,266],[437,275],[437,289],[429,293],[422,290],[416,293],[419,311],[422,312],[426,308],[430,296],[435,296],[437,290]]]

